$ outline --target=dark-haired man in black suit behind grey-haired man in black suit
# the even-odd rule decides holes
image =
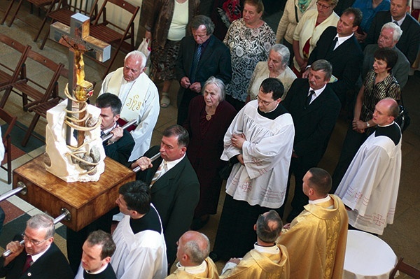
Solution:
[[[354,85],[360,76],[363,52],[353,33],[361,21],[362,13],[358,8],[346,8],[339,17],[337,27],[328,27],[323,31],[308,59],[308,65],[318,59],[330,62],[332,75],[338,80],[328,87],[337,94],[342,106],[353,101],[353,96],[349,99],[347,93],[355,92]],[[305,71],[303,78],[308,76],[309,71]]]

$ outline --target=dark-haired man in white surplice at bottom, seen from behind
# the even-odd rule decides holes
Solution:
[[[162,222],[151,204],[150,188],[137,180],[120,187],[116,201],[125,216],[112,238],[116,252],[111,265],[118,279],[164,279],[167,255]]]

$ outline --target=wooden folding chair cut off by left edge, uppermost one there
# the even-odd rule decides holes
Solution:
[[[7,96],[10,94],[10,90],[12,90],[12,85],[20,80],[20,69],[22,69],[22,65],[25,63],[27,57],[27,52],[31,47],[29,45],[22,45],[18,41],[13,40],[13,38],[9,38],[3,34],[0,34],[0,42],[4,44],[0,45],[1,52],[3,54],[10,52],[10,56],[8,57],[16,57],[17,55],[15,55],[15,52],[20,52],[20,58],[14,67],[15,69],[10,68],[13,62],[0,62],[0,91],[6,90],[6,93],[3,94],[0,101],[0,108],[3,108],[7,101]]]

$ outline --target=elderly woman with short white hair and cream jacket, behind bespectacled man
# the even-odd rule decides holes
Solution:
[[[248,96],[246,102],[257,99],[258,92],[262,80],[266,78],[276,78],[283,83],[284,94],[281,96],[283,100],[296,79],[295,73],[287,66],[289,62],[290,52],[285,45],[276,44],[269,50],[267,62],[258,62],[251,77],[248,86]]]

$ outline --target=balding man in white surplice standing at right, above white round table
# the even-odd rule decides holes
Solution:
[[[398,113],[394,99],[377,103],[372,118],[377,129],[360,146],[335,192],[350,209],[349,224],[372,234],[383,234],[395,215],[401,172]]]

